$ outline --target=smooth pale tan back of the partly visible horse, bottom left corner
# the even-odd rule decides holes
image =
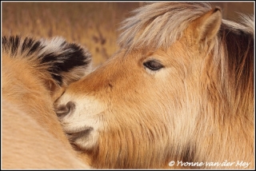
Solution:
[[[62,146],[18,106],[2,101],[3,169],[88,168]]]

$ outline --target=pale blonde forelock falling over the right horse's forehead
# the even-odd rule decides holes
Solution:
[[[209,10],[210,4],[202,2],[162,2],[142,6],[133,11],[133,17],[122,22],[118,43],[128,50],[143,46],[168,47],[182,37],[182,31],[190,22]]]

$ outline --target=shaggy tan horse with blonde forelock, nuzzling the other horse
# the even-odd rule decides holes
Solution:
[[[155,2],[119,50],[54,102],[93,168],[254,168],[254,19],[206,2]]]

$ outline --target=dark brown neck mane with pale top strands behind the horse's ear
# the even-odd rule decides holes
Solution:
[[[223,22],[219,32],[225,49],[227,87],[241,109],[254,97],[254,28],[250,26],[252,18],[245,19],[243,26],[236,27]]]

